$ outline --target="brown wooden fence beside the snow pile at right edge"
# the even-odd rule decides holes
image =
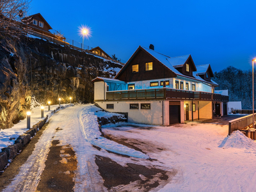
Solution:
[[[256,113],[254,114],[254,119],[256,120]],[[228,135],[233,131],[242,130],[246,127],[250,127],[253,122],[253,115],[243,116],[241,118],[236,118],[228,122]]]

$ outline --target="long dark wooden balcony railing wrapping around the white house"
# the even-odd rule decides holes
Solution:
[[[217,93],[192,92],[170,88],[157,88],[147,90],[123,90],[106,93],[107,100],[127,99],[198,99],[228,102],[228,96]]]

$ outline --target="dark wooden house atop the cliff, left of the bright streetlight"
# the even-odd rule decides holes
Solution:
[[[51,30],[52,27],[48,24],[48,22],[44,19],[44,17],[40,13],[36,13],[35,15],[30,15],[22,19],[22,22],[26,24],[32,33],[35,36],[44,36],[49,38],[54,38],[55,40],[59,40],[63,42],[65,37],[60,34],[52,34]]]

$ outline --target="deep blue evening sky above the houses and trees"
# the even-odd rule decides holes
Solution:
[[[125,63],[139,47],[153,44],[170,57],[191,54],[213,72],[233,66],[251,70],[256,58],[256,1],[32,0],[29,15],[41,13],[67,40],[99,46]],[[52,33],[55,31],[52,31]]]

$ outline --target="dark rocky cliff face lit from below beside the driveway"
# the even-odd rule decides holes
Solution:
[[[38,38],[0,35],[0,129],[24,118],[31,96],[40,103],[93,102],[92,79],[122,65]]]

